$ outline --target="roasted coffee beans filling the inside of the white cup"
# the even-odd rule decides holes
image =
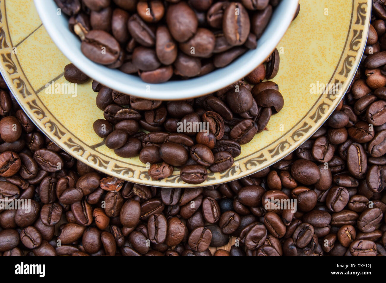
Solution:
[[[54,0],[93,62],[147,83],[203,76],[255,49],[281,0]]]

